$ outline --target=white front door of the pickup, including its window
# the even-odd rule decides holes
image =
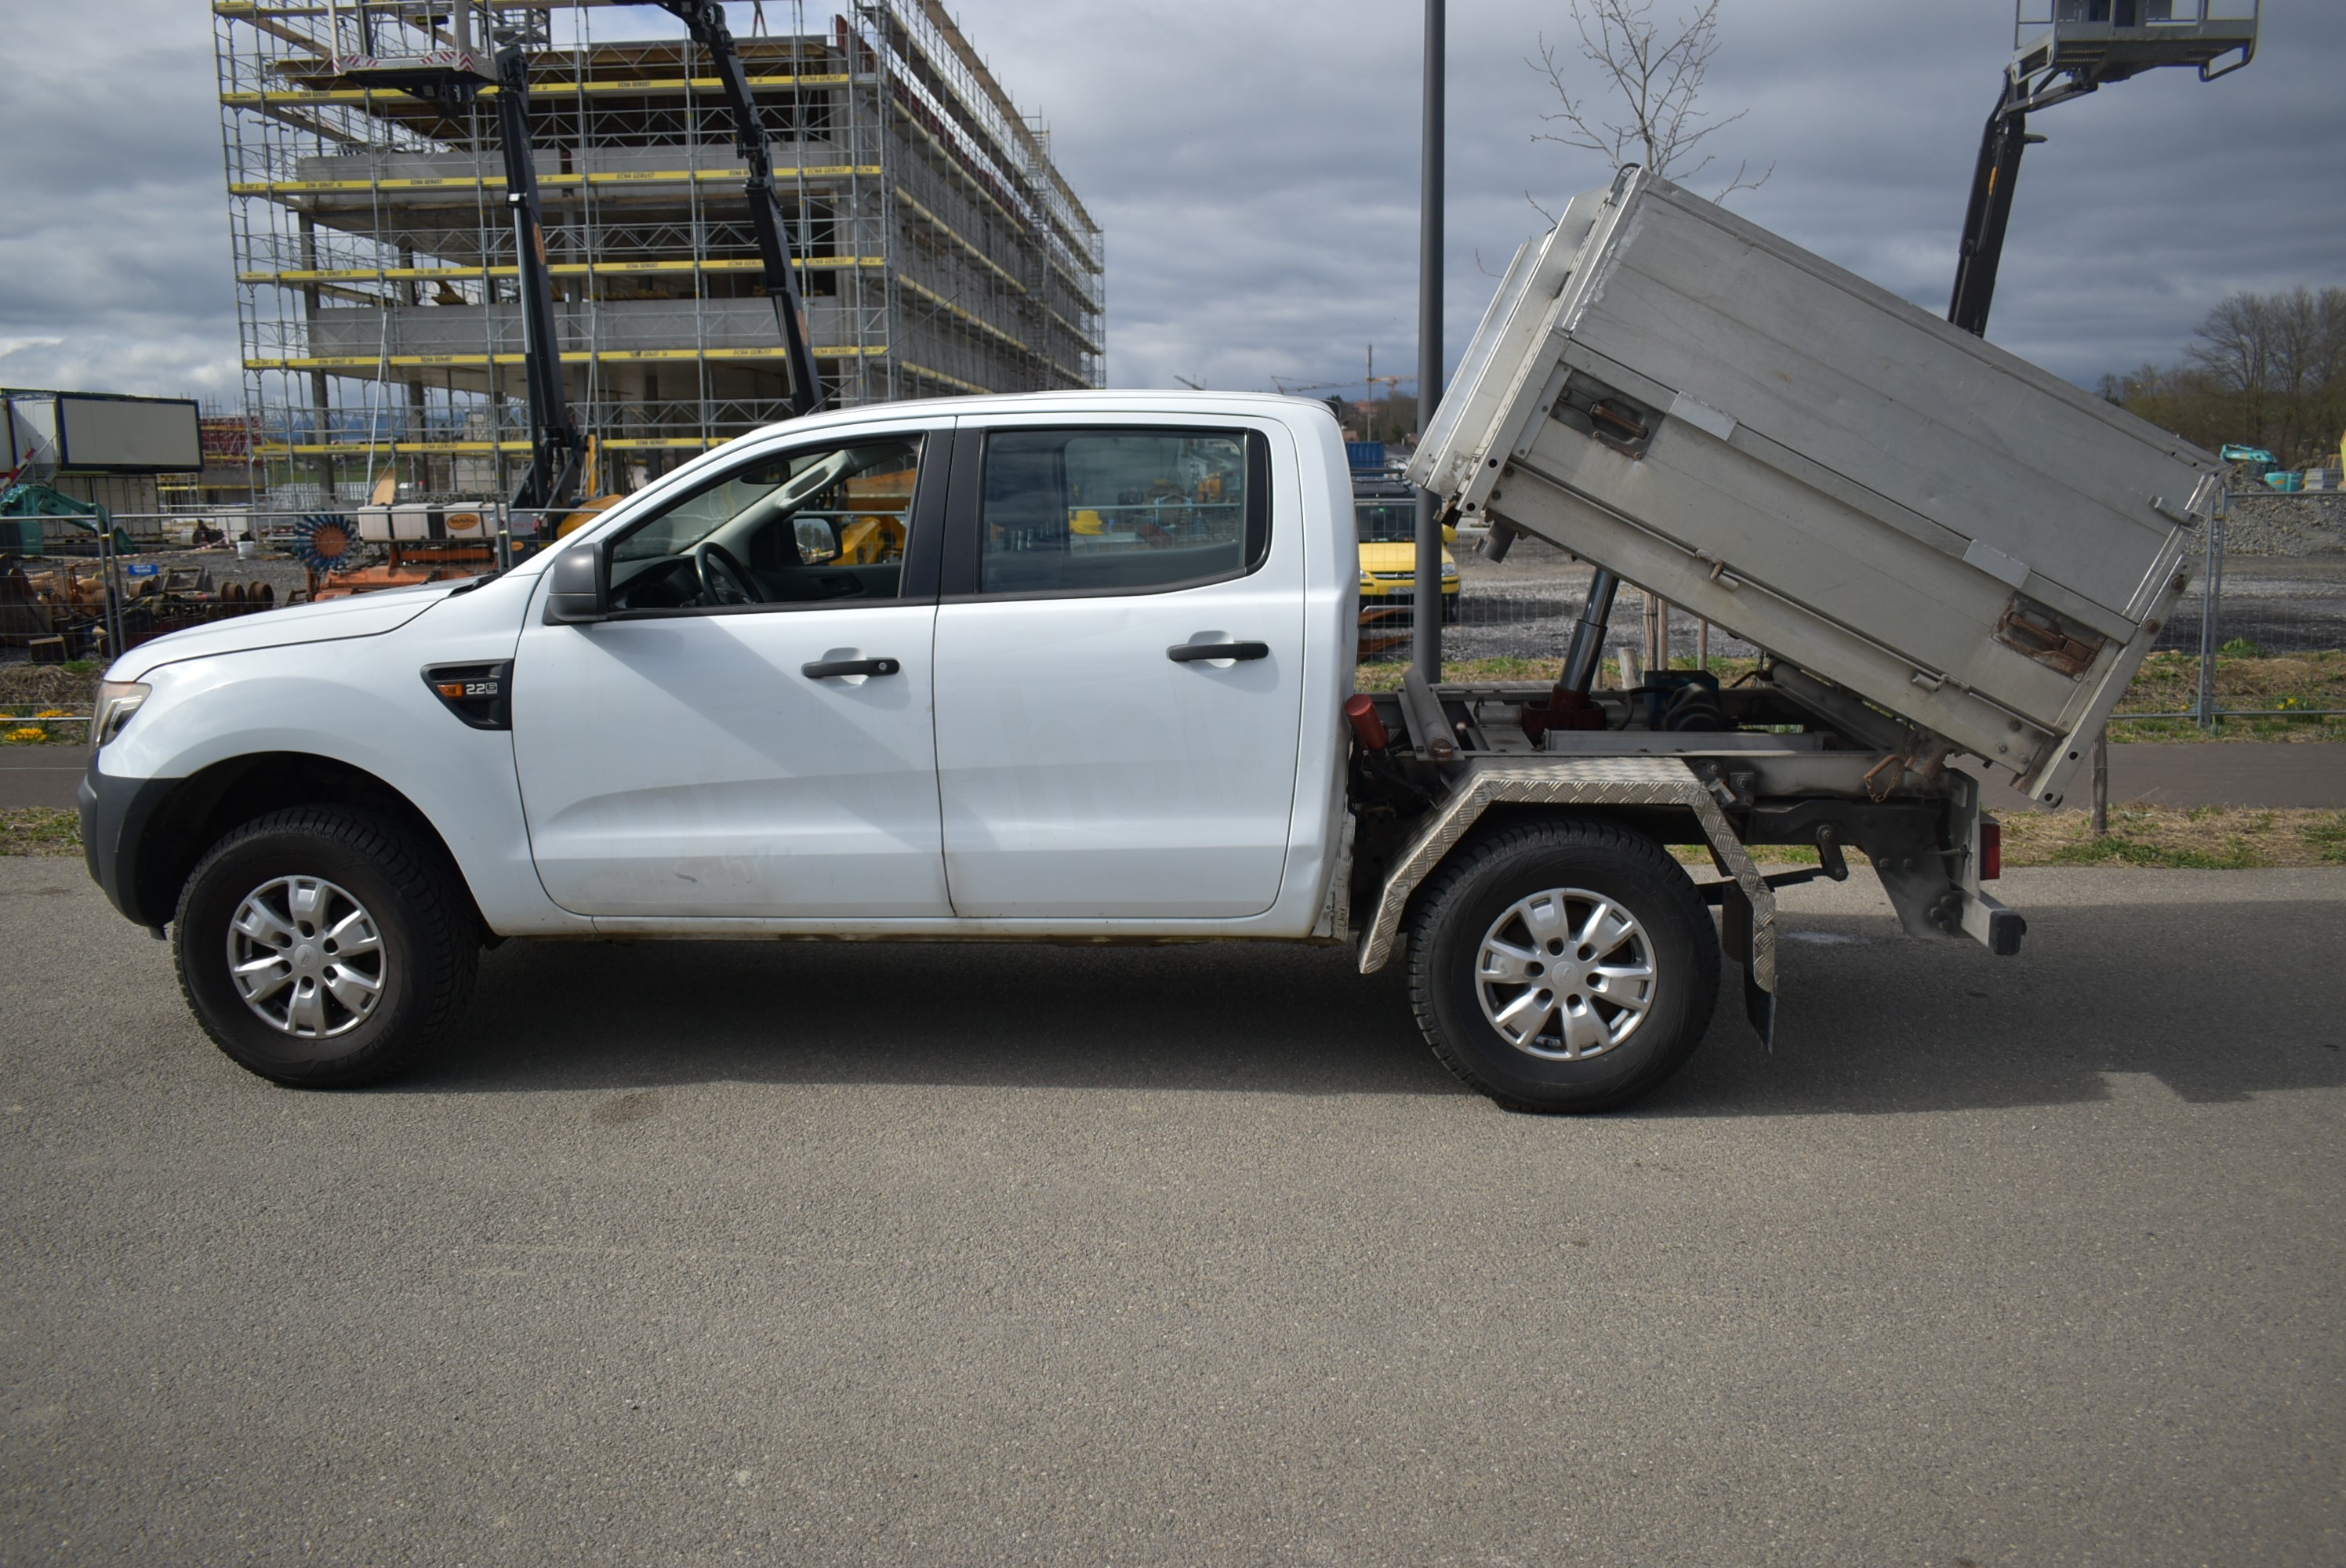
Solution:
[[[615,535],[610,620],[530,617],[514,758],[556,904],[952,913],[922,538],[948,446],[908,432],[767,448]]]

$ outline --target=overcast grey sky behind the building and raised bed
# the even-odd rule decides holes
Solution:
[[[828,16],[833,5],[807,5]],[[1654,0],[1673,16],[1682,0]],[[0,0],[0,385],[235,401],[204,0]],[[748,31],[746,0],[732,5]],[[769,19],[788,16],[769,0]],[[1534,143],[1565,5],[1455,0],[1445,345],[1539,218],[1609,178]],[[2236,77],[2161,70],[2046,110],[1989,338],[2090,385],[2172,361],[2236,289],[2346,284],[2346,5],[2266,0]],[[964,31],[1107,232],[1107,380],[1269,387],[1415,369],[1415,0],[969,0]],[[103,33],[94,23],[103,19]],[[643,31],[671,31],[652,14]],[[596,21],[612,38],[615,19]],[[1731,207],[1945,310],[2003,0],[1727,0],[1706,108]],[[1591,82],[1593,85],[1593,82]],[[1689,181],[1706,195],[1708,174]]]

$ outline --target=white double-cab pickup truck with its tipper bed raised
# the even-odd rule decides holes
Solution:
[[[1666,207],[1642,230],[1640,202]],[[1738,423],[1774,418],[1757,392],[1654,383],[1621,340],[1558,359],[1595,319],[1565,319],[1574,279],[1598,303],[1642,289],[1638,310],[1675,310],[1630,244],[1663,216],[1790,249],[1642,176],[1591,192],[1518,258],[1445,404],[1466,418],[1447,415],[1417,477],[1487,509],[1499,538],[1591,554],[1607,599],[1616,573],[1659,582],[1722,624],[1781,629],[1799,664],[1729,690],[1656,671],[1602,692],[1584,629],[1553,690],[1356,695],[1351,486],[1321,404],[866,406],[706,453],[497,575],[134,648],[106,674],[82,786],[91,876],[169,932],[223,1052],[312,1087],[415,1061],[455,1026],[483,944],[521,937],[1349,944],[1363,972],[1405,955],[1440,1059],[1537,1110],[1616,1106],[1670,1075],[1710,1023],[1722,946],[1771,1030],[1774,899],[1745,845],[1813,847],[1792,880],[1846,876],[1844,845],[1865,850],[1910,932],[2011,953],[2020,920],[1980,890],[1994,824],[1945,763],[1961,746],[2057,786],[2074,751],[2053,765],[2046,744],[2076,744],[2123,690],[2179,587],[2179,530],[2158,512],[2130,523],[2125,568],[2147,587],[2116,608],[2032,577],[2018,547],[1928,538],[1928,570],[1985,584],[1921,582],[1978,622],[1938,641],[1989,653],[1884,676],[1896,650],[1865,617],[1881,582],[1926,570],[1928,495],[1860,493],[1788,448],[1830,455],[1828,439]],[[1757,263],[1710,265],[1750,284]],[[2097,423],[2189,491],[2201,455],[1802,265],[1844,291],[1839,310],[1900,324],[1940,371],[1968,366],[1989,423]],[[1799,307],[1813,343],[1818,300]],[[1703,364],[1699,336],[1645,336]],[[1896,404],[1905,446],[1874,458],[1938,462],[1914,434],[1928,399],[1867,392],[1874,371],[1905,376],[1912,354],[1832,383],[1835,427]],[[1764,486],[1717,477],[1738,432],[1774,465]],[[1717,505],[1687,474],[1724,486]],[[1691,507],[1675,556],[1670,507]],[[1778,538],[1828,514],[1853,552],[1828,575],[1863,610],[1816,603],[1816,563]],[[1593,552],[1623,528],[1619,561]],[[1912,599],[1889,610],[1912,617]],[[2025,758],[1996,756],[2020,737]],[[1708,847],[1717,878],[1666,845]]]

